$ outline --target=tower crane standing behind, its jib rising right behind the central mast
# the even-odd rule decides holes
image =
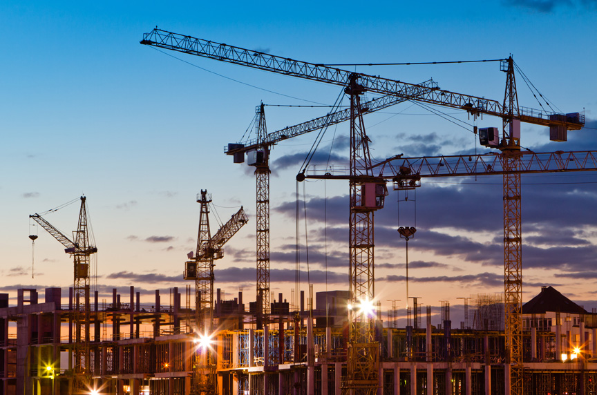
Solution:
[[[421,83],[422,86],[435,87],[433,79]],[[363,113],[372,113],[394,104],[404,102],[405,99],[392,95],[385,95],[363,103]],[[263,327],[269,316],[269,153],[271,147],[285,139],[297,137],[305,133],[319,130],[350,119],[350,108],[328,113],[294,126],[287,126],[281,130],[267,133],[265,122],[265,105],[257,106],[256,111],[256,139],[245,143],[230,143],[225,148],[227,155],[234,157],[235,163],[245,162],[245,154],[249,157],[249,166],[255,166],[256,175],[256,206],[257,206],[257,299],[258,316],[257,328]]]

